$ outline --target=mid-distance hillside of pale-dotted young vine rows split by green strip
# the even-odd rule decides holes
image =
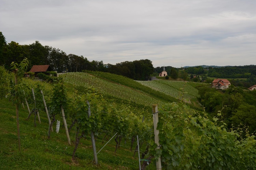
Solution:
[[[121,75],[104,72],[70,72],[61,75],[66,83],[75,86],[94,87],[109,95],[137,104],[151,106],[198,97],[198,90],[179,81],[134,81]]]

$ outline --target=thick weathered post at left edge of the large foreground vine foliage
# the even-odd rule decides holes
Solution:
[[[157,130],[157,123],[158,123],[158,108],[157,108],[157,104],[153,104],[153,120],[154,120],[154,134],[155,134],[155,143],[157,145],[156,149],[160,149],[160,145],[159,145],[159,130]],[[156,159],[156,169],[162,169],[161,167],[161,157],[159,157],[158,159]]]

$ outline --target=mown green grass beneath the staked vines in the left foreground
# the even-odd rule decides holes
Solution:
[[[40,112],[42,124],[37,120],[36,127],[33,124],[33,116],[28,121],[25,120],[28,116],[26,109],[21,107],[19,116],[20,152],[18,152],[15,106],[7,99],[0,101],[0,169],[138,169],[138,154],[135,158],[132,157],[129,141],[127,144],[123,141],[122,146],[114,154],[115,141],[112,139],[98,154],[99,165],[96,166],[91,164],[93,150],[90,137],[87,136],[86,140],[81,139],[76,151],[76,161],[73,162],[71,157],[74,149],[74,131],[70,133],[71,146],[69,146],[65,130],[62,128],[58,134],[52,132],[51,138],[47,138],[48,123],[45,112]],[[105,140],[102,144],[102,139],[103,137],[99,136],[96,140],[97,151],[107,142]],[[155,169],[153,164],[149,168]]]

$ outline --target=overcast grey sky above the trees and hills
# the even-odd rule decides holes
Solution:
[[[255,0],[0,0],[7,43],[154,67],[256,65]]]

